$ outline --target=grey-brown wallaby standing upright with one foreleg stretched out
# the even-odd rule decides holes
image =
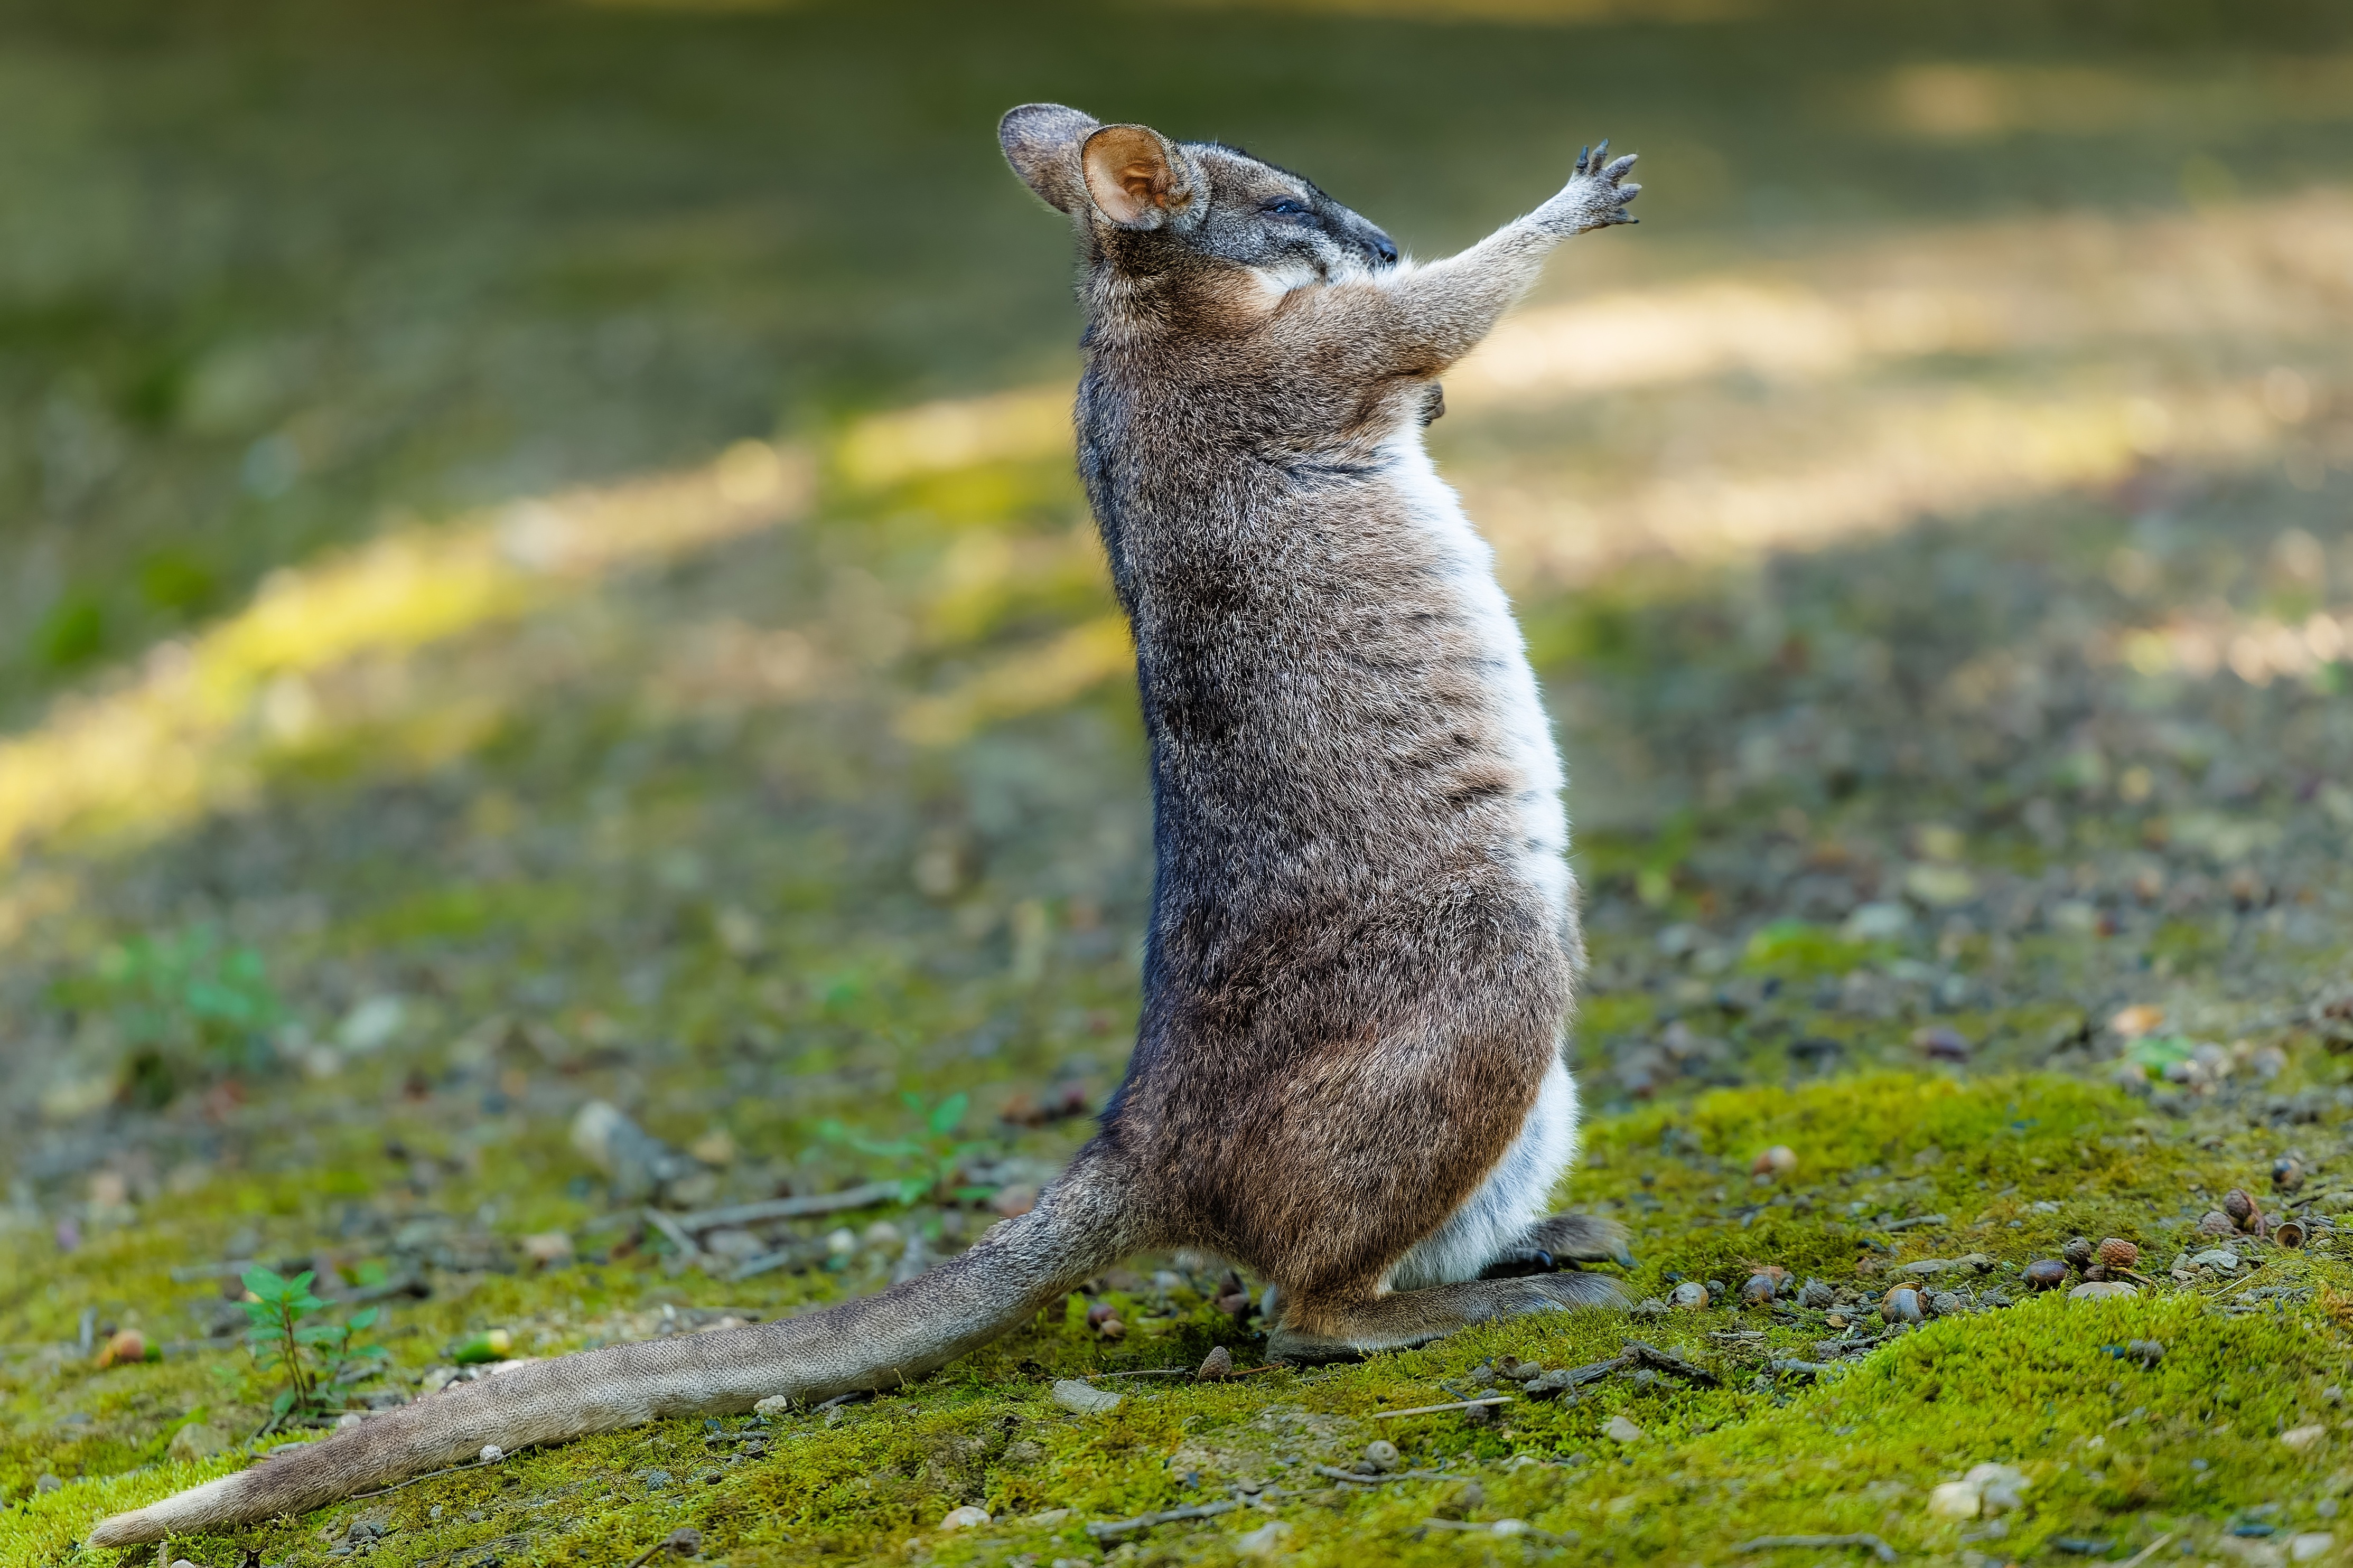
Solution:
[[[1624,1232],[1546,1218],[1577,1152],[1560,757],[1438,376],[1633,158],[1412,266],[1235,148],[1031,103],[998,127],[1085,263],[1078,461],[1134,623],[1153,910],[1134,1058],[1038,1206],[871,1300],[518,1366],[92,1530],[118,1547],[661,1415],[896,1387],[1148,1248],[1273,1284],[1278,1359],[1621,1302]]]

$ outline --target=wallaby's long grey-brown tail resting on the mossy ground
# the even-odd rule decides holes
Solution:
[[[882,1295],[720,1333],[612,1345],[461,1382],[374,1415],[322,1443],[115,1514],[92,1547],[188,1535],[301,1514],[369,1486],[664,1415],[748,1410],[769,1394],[831,1399],[887,1389],[1016,1328],[1045,1302],[1134,1251],[1125,1182],[1111,1159],[1071,1166],[1038,1208],[972,1251]]]

